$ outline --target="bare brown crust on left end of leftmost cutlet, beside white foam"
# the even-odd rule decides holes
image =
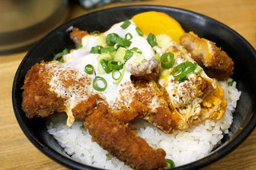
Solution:
[[[57,94],[49,90],[48,72],[44,69],[45,63],[34,65],[26,74],[22,89],[22,109],[26,117],[48,117],[51,113],[65,110],[65,99],[57,97]]]

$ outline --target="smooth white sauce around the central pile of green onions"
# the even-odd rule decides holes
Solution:
[[[146,60],[150,60],[154,57],[154,50],[148,44],[146,37],[141,37],[136,32],[135,24],[133,21],[130,20],[130,26],[125,30],[122,29],[121,25],[123,22],[117,23],[107,30],[104,35],[115,33],[118,34],[119,37],[125,38],[126,34],[130,33],[132,35],[132,39],[130,40],[132,43],[130,47],[127,49],[132,49],[133,47],[137,47],[139,50],[142,51],[142,55],[145,57]],[[85,66],[90,64],[94,66],[94,73],[88,74],[92,80],[94,80],[95,76],[103,77],[107,82],[107,88],[103,92],[98,92],[94,90],[94,93],[99,93],[102,95],[106,101],[112,105],[114,101],[119,100],[119,90],[126,88],[124,84],[130,85],[130,67],[133,65],[137,65],[134,63],[134,59],[136,58],[136,54],[134,53],[133,57],[130,58],[129,61],[126,61],[126,70],[124,73],[124,77],[119,84],[114,84],[114,79],[112,78],[112,73],[98,73],[98,67],[102,66],[98,63],[97,57],[99,56],[98,53],[90,53],[90,49],[96,45],[101,45],[98,42],[99,36],[87,35],[82,38],[82,49],[76,49],[69,54],[66,54],[64,58],[64,65],[70,66],[72,68],[77,69],[80,73],[84,73]],[[119,70],[122,73],[122,69]]]

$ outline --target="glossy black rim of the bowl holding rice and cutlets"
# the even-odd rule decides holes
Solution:
[[[27,58],[30,56],[30,53],[34,49],[37,49],[38,45],[40,45],[42,42],[44,42],[45,39],[49,38],[53,34],[56,34],[56,31],[58,29],[60,29],[61,27],[68,26],[68,25],[70,25],[70,23],[79,20],[79,18],[84,18],[85,16],[90,15],[90,14],[101,13],[101,12],[107,11],[107,10],[122,10],[124,8],[126,10],[134,10],[137,8],[144,8],[147,11],[148,10],[159,10],[159,11],[172,10],[172,11],[187,14],[187,15],[194,15],[194,16],[198,16],[200,18],[206,18],[207,20],[210,20],[211,22],[218,23],[219,26],[222,26],[225,30],[228,30],[231,34],[234,34],[236,37],[238,37],[242,41],[242,43],[244,43],[248,47],[248,49],[250,49],[250,52],[253,53],[254,57],[256,58],[256,51],[255,51],[254,47],[252,45],[250,45],[250,43],[247,42],[245,38],[243,38],[240,34],[238,34],[236,31],[231,29],[229,26],[226,26],[222,22],[218,22],[214,18],[210,18],[206,15],[199,14],[199,13],[191,11],[191,10],[185,10],[182,8],[172,7],[172,6],[155,6],[155,5],[116,6],[116,7],[103,9],[103,10],[96,10],[96,11],[88,13],[88,14],[83,14],[83,15],[79,16],[78,18],[74,18],[68,22],[65,22],[61,26],[58,26],[54,30],[50,31],[50,33],[46,34],[46,36],[44,38],[42,38],[38,43],[36,43],[36,45],[34,45],[34,47],[32,49],[30,49],[30,51],[28,53],[26,53],[26,56],[22,59],[22,62],[18,66],[17,72],[15,73],[15,76],[14,76],[13,87],[12,87],[12,101],[13,101],[14,114],[18,121],[18,125],[22,128],[22,132],[24,132],[24,134],[30,140],[30,142],[32,144],[34,144],[34,146],[36,146],[36,148],[38,148],[46,156],[49,156],[52,160],[55,160],[56,162],[58,162],[59,164],[62,164],[63,166],[66,166],[67,168],[99,169],[99,168],[91,167],[90,165],[79,163],[76,160],[71,160],[71,158],[62,156],[60,153],[56,152],[53,148],[50,148],[49,146],[47,146],[47,144],[45,144],[44,142],[36,139],[33,135],[31,135],[29,128],[27,128],[26,125],[22,124],[22,117],[18,111],[19,106],[17,105],[17,101],[16,101],[16,93],[18,90],[17,81],[18,81],[19,73],[21,72],[21,67],[24,64],[24,62],[27,60]],[[202,168],[202,167],[205,167],[206,165],[216,162],[217,160],[222,159],[224,156],[226,156],[230,152],[233,152],[234,149],[237,148],[239,144],[242,144],[242,142],[244,140],[246,140],[246,137],[249,136],[250,133],[254,130],[255,125],[256,125],[256,114],[254,114],[250,118],[250,121],[248,121],[246,127],[243,128],[241,130],[241,132],[239,132],[238,136],[236,136],[236,140],[231,140],[229,144],[223,146],[220,150],[218,150],[208,156],[205,156],[202,159],[199,159],[199,160],[196,160],[189,164],[184,164],[180,167],[176,167],[176,168],[172,168],[172,169]],[[219,153],[219,152],[221,152],[221,153]]]

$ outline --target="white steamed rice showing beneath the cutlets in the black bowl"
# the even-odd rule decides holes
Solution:
[[[137,124],[138,136],[154,148],[163,148],[166,158],[174,160],[176,166],[207,156],[220,143],[223,135],[229,133],[233,121],[232,113],[241,95],[236,89],[236,83],[228,86],[228,81],[232,79],[218,83],[224,89],[227,102],[226,113],[219,121],[204,121],[186,131],[173,134],[166,134],[148,122],[141,121]],[[90,133],[81,121],[75,121],[74,125],[68,128],[66,115],[59,114],[48,119],[46,128],[74,160],[97,168],[130,169],[96,142],[92,142]]]

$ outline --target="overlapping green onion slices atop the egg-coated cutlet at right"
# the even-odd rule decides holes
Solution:
[[[188,74],[192,73],[194,69],[194,63],[190,61],[185,61],[174,67],[174,69],[172,70],[172,75],[174,76],[174,78],[182,78],[181,81],[184,81],[184,78],[186,78]]]

